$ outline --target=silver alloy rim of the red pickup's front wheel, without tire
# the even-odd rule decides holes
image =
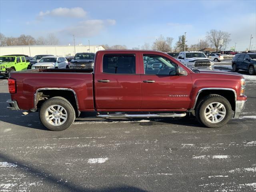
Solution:
[[[226,116],[226,108],[222,103],[210,103],[204,110],[204,117],[208,122],[218,123]]]

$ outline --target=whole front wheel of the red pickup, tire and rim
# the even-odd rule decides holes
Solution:
[[[218,128],[230,120],[232,108],[226,98],[210,94],[198,104],[195,114],[196,119],[204,126]]]

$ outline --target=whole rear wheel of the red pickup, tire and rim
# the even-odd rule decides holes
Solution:
[[[53,97],[46,100],[39,111],[42,124],[53,131],[69,128],[76,118],[76,112],[68,100]]]

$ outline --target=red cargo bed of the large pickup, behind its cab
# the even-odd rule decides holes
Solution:
[[[72,90],[77,96],[79,110],[94,110],[93,70],[32,69],[10,73],[16,80],[16,93],[12,100],[24,110],[35,108],[35,94],[39,89]],[[61,95],[60,95],[61,96]]]

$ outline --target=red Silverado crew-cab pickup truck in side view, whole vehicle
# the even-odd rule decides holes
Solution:
[[[184,117],[191,113],[217,128],[244,110],[245,80],[225,72],[190,70],[168,54],[104,50],[94,70],[34,69],[12,72],[8,108],[36,112],[50,130],[71,126],[82,111],[100,118]]]

